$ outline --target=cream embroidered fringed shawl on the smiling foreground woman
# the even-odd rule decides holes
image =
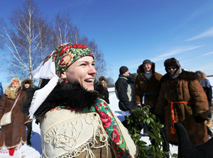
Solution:
[[[109,145],[108,135],[96,112],[78,113],[67,109],[46,113],[41,123],[41,139],[45,158],[77,157],[83,152],[86,157],[95,158],[92,148]],[[102,145],[97,146],[98,142]]]

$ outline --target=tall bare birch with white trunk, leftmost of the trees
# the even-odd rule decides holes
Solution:
[[[14,74],[32,79],[32,70],[40,63],[39,57],[43,56],[40,51],[43,50],[47,25],[32,0],[27,0],[22,9],[15,10],[9,22],[12,25],[10,29],[5,23],[1,25],[0,38],[10,56],[6,57],[3,52],[0,56],[11,64],[10,71]]]

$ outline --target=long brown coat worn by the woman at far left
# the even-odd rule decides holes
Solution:
[[[15,99],[8,97],[9,89],[7,88],[0,102],[0,120],[4,113],[9,112],[15,102]],[[24,91],[19,91],[20,94],[16,105],[12,111],[11,123],[1,127],[0,133],[0,148],[4,145],[7,149],[15,148],[19,143],[26,142],[26,127],[25,123],[28,120],[27,115],[21,112],[21,105],[27,99],[27,94]]]

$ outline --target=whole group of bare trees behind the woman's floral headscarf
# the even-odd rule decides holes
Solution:
[[[98,76],[104,73],[105,61],[97,44],[80,36],[69,15],[58,14],[54,19],[54,24],[48,24],[34,1],[26,0],[21,9],[11,14],[9,23],[1,20],[0,49],[3,51],[0,56],[11,65],[11,74],[32,79],[32,70],[44,57],[67,42],[86,44],[91,48],[96,58]]]

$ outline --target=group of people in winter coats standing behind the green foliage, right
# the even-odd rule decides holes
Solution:
[[[178,145],[174,127],[176,122],[184,126],[192,145],[207,142],[209,136],[212,136],[208,128],[212,126],[212,88],[209,80],[201,71],[185,71],[175,58],[165,60],[164,67],[166,74],[162,76],[155,72],[155,63],[144,60],[138,67],[134,84],[131,83],[128,68],[120,67],[120,75],[115,84],[120,110],[131,114],[133,109],[149,106],[150,112],[164,125],[163,150],[167,153],[169,143]],[[134,98],[130,99],[130,96]],[[146,124],[143,128],[145,133],[151,132],[151,127]]]

